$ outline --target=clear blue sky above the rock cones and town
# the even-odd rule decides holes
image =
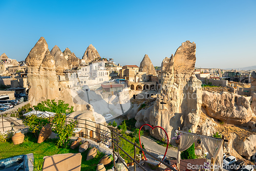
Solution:
[[[197,44],[197,67],[256,66],[256,1],[3,1],[0,55],[24,60],[37,40],[79,58],[92,44],[101,57],[154,66],[181,43]]]

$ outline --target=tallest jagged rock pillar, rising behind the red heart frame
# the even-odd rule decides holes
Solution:
[[[175,129],[197,132],[202,105],[201,81],[195,76],[196,44],[182,43],[175,55],[165,58],[161,67],[161,89],[150,111],[143,116],[145,123],[162,126],[170,140]],[[139,118],[141,122],[141,117]],[[151,134],[158,139],[166,139],[160,129]],[[174,141],[174,140],[173,140]]]

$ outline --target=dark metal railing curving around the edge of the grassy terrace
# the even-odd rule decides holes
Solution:
[[[2,127],[0,129],[3,129],[3,131],[10,130],[11,126],[4,126],[4,122],[14,122],[14,126],[20,127],[20,129],[24,128],[24,124],[20,124],[19,122],[24,120],[25,117],[29,116],[23,116],[24,113],[16,113],[16,114],[0,114],[2,115]],[[14,116],[15,115],[15,116]],[[13,117],[17,118],[19,122],[13,119]],[[133,170],[136,171],[136,165],[139,166],[142,170],[146,171],[146,169],[139,163],[139,161],[136,161],[136,149],[139,149],[140,151],[143,151],[146,156],[150,156],[152,160],[158,161],[168,167],[169,169],[173,171],[177,171],[175,168],[170,166],[169,164],[163,162],[162,160],[158,159],[156,154],[157,152],[153,152],[150,150],[142,149],[140,146],[138,146],[135,143],[131,142],[130,140],[126,139],[122,135],[118,133],[118,130],[114,129],[113,127],[106,126],[100,123],[96,123],[94,121],[90,121],[87,119],[78,119],[78,118],[72,118],[72,117],[66,117],[66,124],[71,122],[71,119],[75,119],[78,121],[78,124],[80,126],[77,126],[77,128],[80,128],[81,131],[76,133],[79,134],[80,137],[90,138],[92,140],[95,140],[99,143],[99,146],[101,144],[104,144],[105,146],[109,147],[113,151],[113,158],[115,159],[115,156],[117,156],[118,161],[121,161],[121,163],[127,168],[127,170],[131,170],[123,161],[122,157],[120,156],[120,152],[125,154],[125,157],[129,158],[134,163]],[[52,117],[49,115],[49,122],[51,123]],[[84,130],[82,130],[84,129]],[[2,130],[1,130],[2,131]],[[85,134],[84,134],[84,132]],[[92,134],[94,133],[94,134]],[[124,149],[120,146],[120,139],[123,139],[127,143],[133,146],[134,155],[129,155]],[[152,154],[155,153],[155,154]],[[160,153],[159,153],[160,154]],[[114,169],[117,170],[116,162],[114,161]],[[159,164],[160,164],[159,163]],[[131,170],[132,171],[132,170]]]

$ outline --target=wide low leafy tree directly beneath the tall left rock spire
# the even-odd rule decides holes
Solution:
[[[36,111],[42,111],[42,112],[54,112],[54,113],[72,113],[74,112],[73,109],[74,107],[71,106],[71,108],[69,108],[69,104],[68,103],[64,103],[63,100],[58,100],[58,102],[56,102],[55,100],[46,100],[46,101],[42,101],[40,103],[38,103],[37,105],[33,106],[34,109]]]

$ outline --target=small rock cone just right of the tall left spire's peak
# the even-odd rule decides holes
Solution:
[[[58,75],[64,75],[63,71],[69,69],[69,64],[67,59],[64,57],[63,53],[57,45],[55,45],[51,50],[51,55],[55,60],[56,72]]]

